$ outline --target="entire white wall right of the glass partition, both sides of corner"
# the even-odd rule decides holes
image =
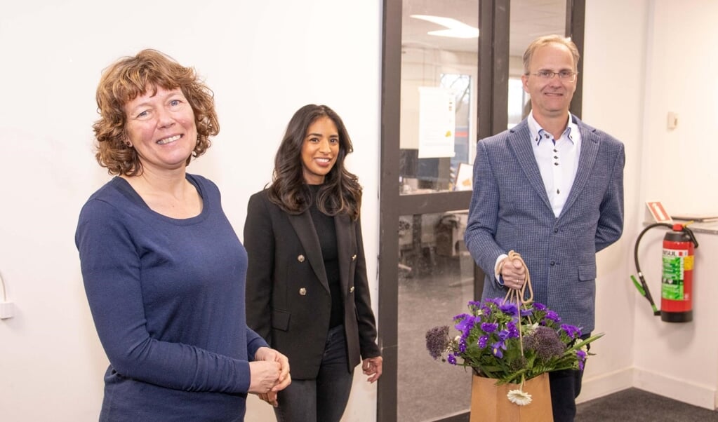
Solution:
[[[626,146],[626,222],[623,238],[599,254],[597,331],[580,400],[630,386],[715,408],[718,339],[712,325],[718,266],[716,235],[697,234],[694,322],[653,317],[630,281],[633,245],[644,228],[645,201],[669,212],[717,212],[712,139],[717,126],[712,75],[718,42],[712,0],[588,0],[584,45],[584,121]],[[679,126],[666,128],[666,113]],[[640,262],[660,303],[663,232],[641,241]]]

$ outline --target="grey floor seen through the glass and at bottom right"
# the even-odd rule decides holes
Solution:
[[[434,361],[424,334],[451,325],[472,295],[470,258],[426,255],[404,264],[398,281],[398,395],[401,422],[437,421],[466,411],[471,374]],[[577,422],[718,421],[718,412],[630,388],[578,405]]]

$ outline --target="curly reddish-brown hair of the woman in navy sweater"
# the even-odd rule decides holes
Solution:
[[[122,57],[107,67],[97,87],[97,107],[100,118],[93,124],[97,152],[95,159],[109,174],[136,176],[142,164],[132,146],[126,144],[127,116],[124,106],[138,95],[158,88],[180,88],[195,113],[197,145],[187,157],[198,157],[207,151],[209,137],[220,131],[215,111],[214,93],[197,76],[192,67],[184,67],[172,57],[157,50],[142,50],[134,57]]]

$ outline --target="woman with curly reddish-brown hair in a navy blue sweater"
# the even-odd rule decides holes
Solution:
[[[115,175],[75,243],[110,365],[101,421],[243,421],[247,393],[289,385],[289,362],[246,325],[247,255],[217,186],[187,164],[219,131],[212,91],[156,50],[97,89],[96,158]]]

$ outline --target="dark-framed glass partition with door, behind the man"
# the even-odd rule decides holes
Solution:
[[[378,421],[469,420],[470,370],[433,360],[425,334],[480,297],[463,243],[476,142],[525,116],[531,39],[578,35],[582,50],[582,13],[583,0],[384,1]]]

